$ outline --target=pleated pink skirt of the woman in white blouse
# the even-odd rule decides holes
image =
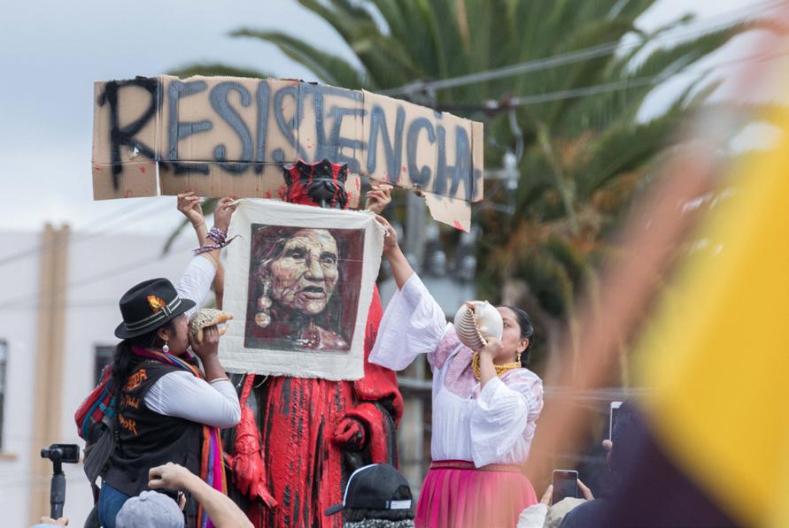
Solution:
[[[475,468],[465,460],[441,460],[430,464],[414,524],[513,528],[522,510],[532,504],[537,504],[537,495],[517,465]]]

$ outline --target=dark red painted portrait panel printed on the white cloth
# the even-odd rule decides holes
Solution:
[[[350,349],[364,232],[251,225],[246,348]]]

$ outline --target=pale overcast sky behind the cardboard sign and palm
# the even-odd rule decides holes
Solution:
[[[178,222],[173,198],[92,201],[94,80],[152,76],[196,61],[313,80],[274,46],[228,37],[230,30],[244,26],[299,34],[324,50],[351,57],[328,25],[286,0],[43,0],[11,5],[0,19],[0,181],[6,211],[0,228],[38,230],[49,221],[100,229],[104,221],[97,219],[121,211],[128,221],[114,227],[125,230],[169,230]],[[698,0],[687,5],[659,0],[639,25],[658,27],[689,10],[700,19],[715,18],[754,2]],[[719,55],[739,57],[746,47],[735,42]],[[658,111],[677,89],[658,90],[646,113]]]

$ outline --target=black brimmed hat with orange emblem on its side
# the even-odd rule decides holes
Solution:
[[[167,279],[141,282],[123,294],[119,304],[123,322],[115,329],[115,337],[120,339],[156,330],[195,306],[195,302],[179,297]]]

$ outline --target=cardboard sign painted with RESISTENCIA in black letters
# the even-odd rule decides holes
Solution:
[[[276,198],[283,165],[324,158],[348,164],[354,207],[363,176],[422,190],[433,218],[464,229],[483,198],[482,123],[363,90],[162,75],[97,82],[94,102],[95,200]]]

